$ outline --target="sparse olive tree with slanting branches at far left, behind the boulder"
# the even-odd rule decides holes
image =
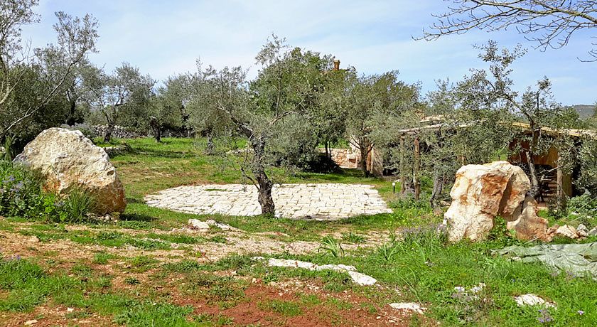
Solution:
[[[0,139],[8,134],[19,134],[30,126],[33,117],[48,106],[65,90],[72,72],[85,62],[87,53],[95,51],[97,21],[90,15],[72,17],[56,13],[54,29],[58,39],[48,50],[35,50],[23,43],[21,28],[36,23],[38,16],[33,7],[36,0],[6,0],[0,2]],[[42,53],[52,53],[51,60]],[[30,101],[17,101],[16,92],[26,90],[26,77],[35,71],[43,81]]]

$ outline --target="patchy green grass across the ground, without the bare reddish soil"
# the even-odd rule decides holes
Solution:
[[[114,141],[115,144],[120,141]],[[171,303],[170,294],[159,294],[157,286],[171,283],[184,296],[196,297],[210,305],[227,309],[247,301],[245,279],[226,277],[214,272],[235,272],[240,277],[255,278],[268,284],[288,279],[316,282],[323,291],[341,298],[344,291],[355,292],[367,302],[359,306],[370,314],[386,308],[393,301],[416,301],[429,308],[426,316],[442,326],[595,326],[597,322],[597,282],[569,274],[553,274],[542,264],[510,261],[492,254],[493,250],[519,244],[507,237],[492,235],[486,242],[460,242],[448,245],[443,237],[425,229],[409,226],[438,223],[441,218],[430,215],[426,202],[399,200],[392,195],[390,181],[362,178],[359,171],[342,173],[286,173],[272,171],[272,176],[283,183],[368,183],[374,185],[388,200],[394,213],[362,216],[338,222],[316,222],[256,217],[229,217],[224,215],[188,215],[169,210],[150,208],[143,202],[146,194],[164,188],[193,183],[240,183],[238,171],[221,156],[205,156],[192,139],[164,139],[156,144],[153,139],[127,140],[132,151],[114,158],[119,176],[127,188],[129,205],[118,223],[85,223],[86,230],[65,228],[65,225],[45,222],[28,223],[21,218],[0,220],[0,230],[35,235],[41,242],[70,240],[82,245],[102,247],[129,247],[140,250],[171,250],[172,244],[187,245],[187,257],[180,262],[158,262],[151,253],[137,257],[116,257],[107,252],[95,252],[90,266],[74,262],[68,269],[60,268],[63,261],[56,254],[39,259],[0,260],[0,311],[3,313],[29,312],[43,303],[75,307],[76,313],[68,318],[89,317],[92,313],[110,316],[114,322],[126,326],[222,326],[233,321],[226,316],[193,314],[193,308]],[[429,187],[424,181],[424,188]],[[154,229],[170,230],[185,225],[190,218],[215,219],[246,232],[279,232],[274,239],[320,242],[323,235],[340,232],[339,240],[328,237],[321,252],[294,255],[280,250],[274,257],[300,259],[316,264],[350,264],[359,272],[377,279],[380,287],[356,286],[342,272],[309,271],[283,267],[267,267],[264,262],[250,259],[254,255],[232,255],[215,262],[201,263],[193,259],[190,245],[205,242],[227,242],[225,234],[208,235],[163,234]],[[136,230],[135,235],[114,230]],[[399,235],[384,245],[358,250],[340,250],[345,244],[369,245],[367,231],[393,232]],[[595,241],[588,239],[584,242]],[[0,239],[0,242],[2,240]],[[569,242],[569,241],[568,241]],[[341,245],[340,245],[341,243]],[[180,247],[179,247],[180,248]],[[39,252],[40,255],[42,252]],[[265,256],[264,254],[261,254]],[[50,257],[50,258],[48,258]],[[116,260],[118,259],[118,260]],[[122,261],[124,260],[124,264]],[[118,261],[118,262],[117,262]],[[70,262],[72,264],[72,262]],[[104,274],[104,265],[112,264],[111,274],[134,272],[148,274],[149,282],[141,286],[139,279],[127,276],[126,290],[114,289],[114,276]],[[51,269],[48,269],[48,266]],[[51,274],[48,272],[51,271]],[[107,270],[110,271],[110,270]],[[222,275],[224,277],[222,277]],[[151,284],[150,284],[151,283]],[[455,286],[470,288],[480,283],[487,286],[476,298],[455,294]],[[146,285],[150,284],[150,285]],[[147,287],[145,287],[147,286]],[[154,287],[155,286],[155,287]],[[558,309],[549,309],[554,321],[539,323],[537,308],[519,308],[513,296],[537,294],[556,303]],[[51,302],[48,302],[51,301]],[[296,301],[264,300],[259,308],[281,316],[292,317],[305,313],[313,306],[326,306],[334,311],[354,310],[355,305],[313,295],[299,295]],[[579,311],[584,313],[581,315]],[[414,318],[414,325],[421,323]],[[72,321],[74,324],[75,322]]]

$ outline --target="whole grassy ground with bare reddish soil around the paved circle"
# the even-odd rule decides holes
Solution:
[[[133,151],[112,159],[129,201],[117,223],[0,219],[0,326],[597,326],[596,281],[495,256],[521,244],[503,235],[448,245],[434,228],[441,218],[394,198],[391,181],[351,170],[271,172],[276,183],[371,184],[394,209],[340,222],[173,213],[145,205],[144,195],[242,183],[232,160],[205,156],[193,139],[126,142]],[[189,218],[239,230],[188,232]],[[255,256],[353,265],[377,284]],[[556,308],[518,307],[513,297],[527,293]]]

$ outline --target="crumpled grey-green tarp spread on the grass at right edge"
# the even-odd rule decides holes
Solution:
[[[586,244],[549,244],[535,247],[505,247],[497,254],[518,257],[522,262],[543,262],[547,266],[576,276],[597,277],[597,242]]]

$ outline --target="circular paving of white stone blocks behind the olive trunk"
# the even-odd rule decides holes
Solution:
[[[392,213],[377,190],[363,184],[281,184],[272,191],[276,217],[338,220],[356,215]],[[259,215],[257,188],[252,185],[200,185],[168,188],[147,195],[151,207],[198,215]]]

